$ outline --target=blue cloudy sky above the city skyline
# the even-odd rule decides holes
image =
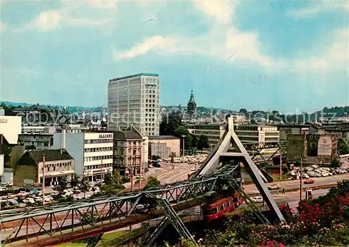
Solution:
[[[349,104],[347,1],[1,1],[0,100],[107,105],[107,81],[161,75],[161,105]]]

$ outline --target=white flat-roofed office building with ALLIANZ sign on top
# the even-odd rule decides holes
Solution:
[[[112,172],[113,133],[104,131],[84,133],[54,133],[54,149],[63,147],[75,159],[75,173],[91,181],[103,179]]]

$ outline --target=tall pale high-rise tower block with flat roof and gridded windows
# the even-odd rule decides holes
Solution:
[[[159,134],[158,74],[140,73],[110,79],[108,130],[125,130],[131,123],[141,135]]]

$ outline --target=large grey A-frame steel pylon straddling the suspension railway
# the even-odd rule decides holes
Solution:
[[[234,151],[229,151],[229,149],[234,149]],[[240,142],[239,137],[237,137],[237,134],[234,131],[234,121],[232,117],[228,117],[228,126],[224,135],[221,137],[221,140],[219,140],[216,147],[214,147],[206,160],[202,165],[200,165],[199,170],[195,172],[191,178],[214,173],[214,171],[221,165],[222,160],[227,158],[244,163],[244,166],[248,170],[248,174],[251,176],[253,183],[260,191],[260,195],[264,198],[269,209],[274,212],[279,220],[283,221],[283,215],[281,214],[274,197],[272,197],[267,186],[265,186],[265,181],[267,181],[267,179],[265,179],[255,163],[253,163],[251,156],[249,156],[244,145]]]

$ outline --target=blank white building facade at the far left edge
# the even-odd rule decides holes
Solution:
[[[17,144],[21,132],[22,117],[0,115],[0,134],[3,134],[9,144]]]

